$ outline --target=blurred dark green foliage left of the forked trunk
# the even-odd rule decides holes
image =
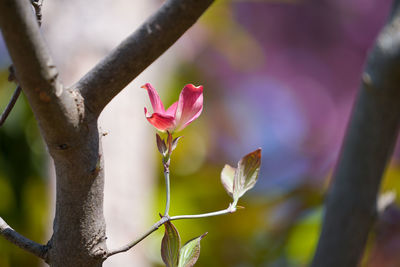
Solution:
[[[15,85],[0,72],[0,110]],[[0,127],[0,216],[22,235],[46,242],[49,203],[45,176],[46,157],[37,123],[21,95]],[[0,266],[39,266],[37,257],[0,238]]]

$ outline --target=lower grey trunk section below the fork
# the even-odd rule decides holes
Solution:
[[[85,126],[77,142],[67,144],[68,156],[53,156],[57,181],[51,266],[101,266],[107,251],[100,137],[95,120]]]

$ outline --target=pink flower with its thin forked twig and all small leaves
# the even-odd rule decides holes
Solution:
[[[174,137],[173,135],[183,130],[200,116],[203,110],[203,86],[196,87],[192,84],[185,85],[179,95],[178,101],[167,109],[164,108],[157,91],[151,84],[146,83],[142,88],[147,90],[153,108],[153,113],[150,113],[147,108],[144,108],[146,119],[158,131],[167,133],[165,140],[156,133],[157,148],[162,155],[166,185],[165,210],[163,214],[160,214],[160,220],[156,222],[149,231],[118,251],[121,252],[130,249],[152,232],[156,231],[161,225],[164,225],[165,233],[161,242],[161,257],[165,265],[167,267],[191,267],[199,258],[200,241],[207,233],[188,241],[182,246],[179,232],[172,224],[172,221],[197,219],[235,212],[239,208],[239,206],[237,206],[239,198],[251,189],[257,181],[261,164],[261,149],[257,149],[244,156],[238,162],[237,167],[225,165],[222,169],[222,185],[232,197],[232,202],[228,205],[228,208],[202,214],[170,216],[169,166],[172,151],[177,147],[178,141],[181,138],[181,136]]]

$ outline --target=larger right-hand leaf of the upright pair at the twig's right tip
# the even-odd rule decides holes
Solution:
[[[253,188],[261,165],[261,148],[247,154],[238,163],[233,181],[233,198],[237,201]]]

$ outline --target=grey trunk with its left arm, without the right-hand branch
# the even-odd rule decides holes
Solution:
[[[58,81],[28,0],[0,0],[0,27],[56,170],[51,266],[101,266],[104,171],[96,117]],[[7,230],[7,232],[9,232]],[[14,234],[15,236],[15,234]]]

